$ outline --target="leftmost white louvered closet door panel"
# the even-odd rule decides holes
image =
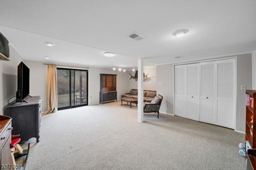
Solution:
[[[185,100],[185,65],[174,66],[174,115],[184,117],[186,115]]]

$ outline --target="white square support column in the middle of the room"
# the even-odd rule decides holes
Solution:
[[[138,122],[142,123],[143,120],[143,59],[138,59]]]

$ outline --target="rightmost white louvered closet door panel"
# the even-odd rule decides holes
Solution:
[[[216,61],[216,125],[235,126],[235,59]]]

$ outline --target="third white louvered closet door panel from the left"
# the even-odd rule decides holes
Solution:
[[[200,63],[200,121],[215,124],[215,61]]]

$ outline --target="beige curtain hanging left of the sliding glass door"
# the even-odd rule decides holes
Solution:
[[[57,67],[56,65],[48,65],[46,78],[46,102],[47,113],[57,111],[58,107],[58,90],[57,90]]]

